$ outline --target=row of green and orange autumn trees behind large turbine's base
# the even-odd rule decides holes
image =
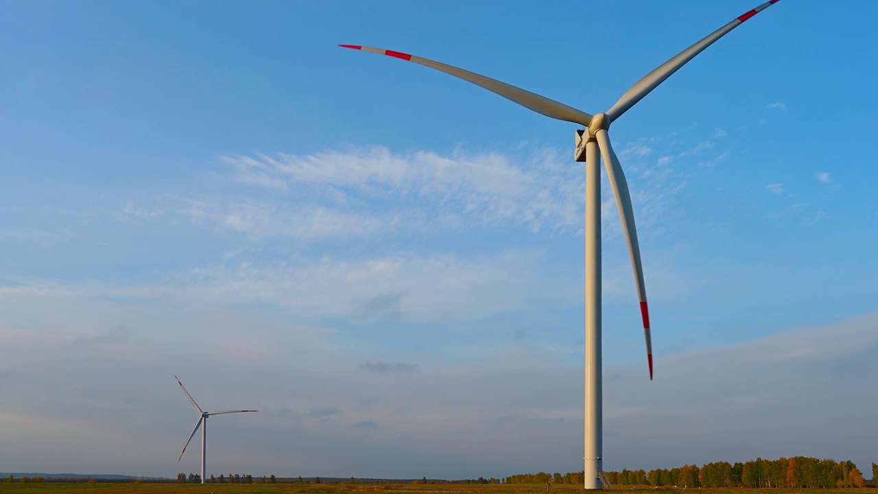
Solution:
[[[609,483],[620,485],[673,485],[680,487],[766,487],[766,488],[852,488],[866,487],[866,478],[853,461],[835,461],[806,456],[729,463],[717,461],[699,468],[646,471],[623,469],[604,472]],[[872,478],[878,481],[878,464],[872,463]],[[554,475],[540,472],[508,476],[503,483],[585,483],[585,472]]]

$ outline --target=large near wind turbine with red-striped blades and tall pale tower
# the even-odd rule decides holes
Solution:
[[[658,69],[644,76],[637,84],[631,86],[630,90],[626,91],[622,98],[619,98],[615,105],[606,113],[597,113],[595,115],[582,112],[530,91],[501,83],[492,78],[480,76],[469,70],[457,69],[457,67],[434,62],[419,56],[380,48],[339,45],[345,48],[385,54],[408,62],[420,63],[431,69],[440,70],[451,76],[456,76],[464,79],[464,81],[481,86],[536,113],[542,113],[552,119],[578,123],[585,127],[576,131],[574,157],[576,161],[586,163],[586,456],[584,459],[586,489],[601,489],[603,485],[601,480],[601,157],[607,167],[609,183],[613,187],[615,203],[619,208],[619,216],[622,218],[622,226],[628,240],[631,264],[634,267],[634,278],[637,282],[637,296],[640,300],[640,313],[644,322],[646,359],[650,367],[650,380],[652,380],[650,316],[646,303],[644,272],[640,262],[640,247],[637,243],[637,229],[634,226],[634,211],[631,207],[628,184],[625,181],[622,165],[615,156],[613,147],[609,142],[608,130],[610,124],[627,112],[631,106],[636,105],[638,101],[658,87],[659,84],[662,84],[666,78],[680,69],[680,67],[692,60],[696,54],[700,54],[704,48],[709,47],[714,41],[719,40],[747,19],[752,18],[760,11],[779,1],[770,0],[752,11],[734,18],[729,24],[723,25],[714,33],[709,34],[703,40],[683,50],[680,54],[659,66]]]

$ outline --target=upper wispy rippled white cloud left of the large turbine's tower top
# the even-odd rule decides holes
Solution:
[[[500,154],[394,154],[382,147],[222,160],[240,184],[283,191],[284,197],[305,194],[306,200],[327,208],[369,209],[392,199],[392,207],[401,209],[392,211],[397,217],[412,210],[431,214],[441,207],[448,226],[464,224],[454,220],[458,217],[465,223],[531,231],[580,228],[582,174],[551,153],[522,165]],[[241,227],[247,228],[243,220]]]

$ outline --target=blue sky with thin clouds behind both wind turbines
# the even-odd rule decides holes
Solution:
[[[577,127],[337,45],[598,113],[753,6],[0,5],[4,468],[196,471],[178,374],[263,410],[218,475],[581,469]],[[876,10],[776,4],[614,123],[656,381],[605,182],[607,469],[876,460]]]

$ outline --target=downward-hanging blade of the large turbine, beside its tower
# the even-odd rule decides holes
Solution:
[[[652,335],[650,332],[650,311],[646,303],[646,284],[644,283],[644,266],[640,262],[640,244],[637,243],[637,227],[634,225],[634,209],[631,206],[631,194],[628,192],[628,182],[619,158],[615,156],[613,146],[609,143],[609,135],[605,129],[595,134],[598,147],[604,165],[607,167],[607,177],[613,186],[615,204],[619,207],[619,217],[622,218],[622,228],[628,239],[628,250],[631,254],[631,265],[634,266],[634,278],[637,281],[637,298],[640,299],[640,316],[644,320],[644,338],[646,338],[646,360],[650,364],[650,381],[652,380]]]

